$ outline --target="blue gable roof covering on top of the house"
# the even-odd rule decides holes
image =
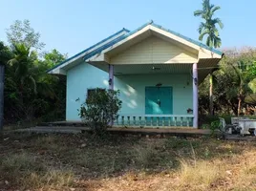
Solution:
[[[216,49],[213,49],[213,48],[210,48],[206,45],[204,45],[202,42],[200,41],[197,41],[197,40],[193,40],[187,36],[184,36],[182,35],[181,33],[179,32],[173,32],[171,30],[168,30],[168,29],[165,29],[163,27],[161,27],[160,25],[158,24],[155,24],[153,21],[150,21],[150,22],[147,22],[145,23],[144,25],[140,26],[137,30],[135,31],[132,31],[130,32],[129,30],[123,28],[121,31],[119,32],[116,32],[114,33],[113,35],[103,39],[102,41],[96,43],[94,46],[80,52],[80,53],[77,53],[75,54],[74,56],[64,60],[63,62],[57,64],[56,66],[54,66],[52,69],[50,69],[49,71],[47,71],[49,74],[55,74],[53,73],[53,70],[54,69],[57,69],[57,68],[62,68],[64,66],[67,65],[68,62],[70,62],[71,60],[75,60],[75,59],[78,59],[79,57],[82,56],[83,60],[87,60],[89,59],[90,57],[93,57],[94,55],[98,54],[98,53],[101,53],[102,51],[108,49],[108,48],[111,48],[112,46],[116,45],[118,42],[122,41],[122,40],[125,40],[126,38],[128,38],[129,36],[135,34],[136,32],[139,32],[140,30],[144,29],[145,27],[147,26],[153,26],[153,27],[156,27],[157,29],[160,29],[164,32],[169,32],[170,34],[173,34],[173,35],[176,35],[178,37],[180,37],[181,39],[189,42],[189,43],[192,43],[200,48],[203,48],[204,50],[207,50],[207,51],[210,51],[212,53],[216,53],[220,56],[222,56],[224,53],[222,53],[221,51],[219,50],[216,50]],[[112,39],[113,38],[113,39]]]

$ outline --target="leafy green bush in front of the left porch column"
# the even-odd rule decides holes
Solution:
[[[119,91],[100,88],[88,90],[86,100],[80,107],[79,116],[94,133],[105,132],[117,119],[117,113],[121,108],[118,96]]]

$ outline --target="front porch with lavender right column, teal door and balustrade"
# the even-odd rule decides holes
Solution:
[[[197,63],[109,65],[109,89],[118,90],[122,101],[114,127],[198,128],[197,67]]]

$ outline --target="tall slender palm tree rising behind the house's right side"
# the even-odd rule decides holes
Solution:
[[[220,10],[221,7],[210,4],[210,0],[203,0],[203,10],[194,11],[194,16],[201,16],[203,22],[199,26],[199,40],[206,38],[206,45],[211,48],[219,48],[222,45],[222,39],[220,38],[219,31],[216,25],[219,25],[221,29],[224,28],[220,18],[213,18],[215,11]],[[210,89],[209,89],[209,113],[213,115],[213,76],[212,73],[209,77]]]

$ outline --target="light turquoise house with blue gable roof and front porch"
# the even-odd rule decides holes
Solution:
[[[77,109],[87,91],[120,91],[115,124],[198,127],[198,84],[223,53],[150,22],[123,29],[51,69],[67,75],[66,120],[80,120]]]

